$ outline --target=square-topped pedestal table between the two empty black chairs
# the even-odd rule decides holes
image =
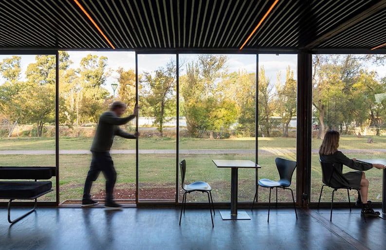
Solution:
[[[250,160],[212,160],[216,167],[231,168],[231,211],[220,210],[222,219],[251,219],[243,210],[237,211],[238,169],[259,168],[260,166]]]

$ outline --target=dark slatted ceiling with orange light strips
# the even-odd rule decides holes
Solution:
[[[240,51],[275,0],[1,0],[0,50]],[[279,0],[241,52],[385,53],[386,0]]]

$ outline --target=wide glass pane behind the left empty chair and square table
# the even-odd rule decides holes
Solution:
[[[185,182],[204,181],[214,202],[230,201],[231,169],[213,159],[256,161],[256,55],[180,54],[179,160]],[[180,177],[181,182],[181,177]],[[239,169],[239,201],[253,200],[254,169]],[[180,201],[183,190],[179,185]],[[187,201],[207,201],[192,193]]]

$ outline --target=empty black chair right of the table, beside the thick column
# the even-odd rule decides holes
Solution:
[[[296,168],[296,162],[282,159],[282,158],[276,158],[275,163],[276,163],[277,171],[279,172],[280,180],[276,182],[276,181],[271,181],[269,179],[260,179],[257,182],[255,198],[253,199],[253,204],[252,204],[252,210],[253,210],[253,207],[255,205],[258,186],[268,187],[269,188],[269,202],[268,202],[268,220],[267,221],[269,222],[269,211],[271,209],[271,191],[273,188],[276,188],[276,207],[277,207],[277,188],[280,187],[283,189],[291,190],[292,200],[294,202],[295,215],[296,215],[296,219],[297,219],[294,192],[292,191],[291,188],[289,188],[289,186],[291,185],[292,175],[293,175],[294,170]]]

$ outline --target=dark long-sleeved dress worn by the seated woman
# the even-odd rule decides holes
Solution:
[[[336,151],[334,154],[331,155],[319,154],[319,157],[322,162],[333,163],[336,167],[336,170],[340,173],[342,173],[343,165],[352,169],[360,170],[350,171],[344,174],[342,173],[348,183],[346,183],[345,180],[341,180],[342,178],[339,178],[339,176],[333,176],[333,178],[331,178],[331,185],[341,185],[342,183],[339,182],[343,182],[349,184],[350,187],[359,189],[361,187],[362,171],[366,171],[372,168],[371,163],[353,161],[352,159],[349,159],[349,157],[344,155],[341,151]]]

